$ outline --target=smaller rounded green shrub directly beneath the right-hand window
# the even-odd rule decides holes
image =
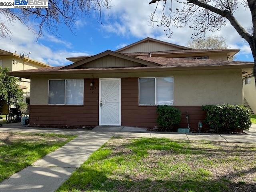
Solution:
[[[170,131],[179,125],[181,117],[179,109],[169,105],[159,105],[156,112],[158,113],[156,122],[162,128],[161,130]]]

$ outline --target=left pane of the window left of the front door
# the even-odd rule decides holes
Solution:
[[[65,104],[65,80],[49,80],[49,104]]]

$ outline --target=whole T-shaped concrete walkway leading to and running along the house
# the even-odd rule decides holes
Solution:
[[[170,138],[183,140],[209,140],[222,142],[256,142],[256,125],[247,134],[178,134],[147,132],[134,127],[97,126],[93,130],[68,130],[50,128],[29,128],[20,124],[7,124],[0,132],[56,133],[78,135],[62,148],[36,161],[32,166],[0,183],[0,192],[53,192],[90,154],[100,148],[111,136],[130,138]]]

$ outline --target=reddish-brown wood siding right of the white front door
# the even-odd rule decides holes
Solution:
[[[189,115],[189,125],[193,130],[197,130],[198,121],[203,122],[205,112],[201,106],[175,106],[182,112],[180,127],[188,127],[186,112]],[[156,106],[139,106],[138,105],[138,78],[121,79],[121,125],[154,127],[158,126],[156,118]]]

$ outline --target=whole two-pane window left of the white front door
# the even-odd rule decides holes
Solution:
[[[84,80],[49,80],[49,104],[84,104]]]

